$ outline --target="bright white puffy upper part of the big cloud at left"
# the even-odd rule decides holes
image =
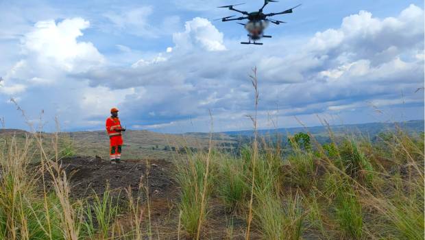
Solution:
[[[39,21],[21,39],[22,58],[7,71],[0,91],[16,95],[32,86],[66,82],[64,74],[104,64],[92,43],[78,42],[90,23],[81,18]]]

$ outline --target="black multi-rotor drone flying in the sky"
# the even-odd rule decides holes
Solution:
[[[289,8],[288,10],[284,10],[283,12],[271,12],[268,14],[263,13],[264,7],[270,3],[270,2],[277,2],[276,0],[264,0],[263,7],[261,7],[257,12],[245,12],[241,10],[237,10],[234,8],[236,5],[242,5],[244,3],[234,4],[234,5],[224,5],[218,8],[228,8],[229,10],[239,12],[245,16],[239,16],[237,18],[234,18],[234,16],[225,16],[221,18],[222,22],[227,21],[239,21],[247,19],[247,23],[238,23],[240,25],[243,25],[245,29],[247,30],[248,34],[248,41],[247,42],[241,42],[241,44],[254,44],[254,45],[263,45],[263,43],[257,43],[256,41],[260,40],[260,38],[271,38],[269,35],[264,35],[264,29],[266,29],[269,25],[269,23],[274,23],[276,25],[280,25],[280,23],[286,23],[284,21],[279,21],[275,19],[269,19],[269,16],[275,16],[278,14],[289,14],[292,13],[292,10],[294,8],[298,8],[300,5],[296,5],[293,8]],[[215,19],[220,20],[220,19]]]

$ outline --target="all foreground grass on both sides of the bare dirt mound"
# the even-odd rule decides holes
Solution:
[[[330,132],[330,139],[326,145],[303,140],[302,148],[291,144],[282,151],[255,134],[234,156],[219,152],[210,138],[206,151],[180,155],[173,238],[424,239],[423,134],[398,130],[372,142]],[[90,200],[71,199],[60,166],[67,155],[60,153],[69,150],[59,144],[59,134],[49,149],[46,142],[35,131],[5,141],[0,239],[155,238],[147,178],[136,195],[126,189],[122,209],[109,190]],[[40,169],[34,170],[35,157]]]

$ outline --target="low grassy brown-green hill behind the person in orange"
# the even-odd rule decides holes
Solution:
[[[15,141],[25,144],[29,132],[16,129],[0,130],[0,147],[7,144],[7,140],[15,136]],[[42,134],[43,145],[47,154],[53,154],[51,142],[56,134]],[[222,134],[223,135],[223,134]],[[108,159],[109,138],[105,131],[61,132],[58,134],[59,145],[69,155],[100,156]],[[209,134],[162,134],[147,130],[127,130],[123,132],[123,160],[128,159],[173,159],[176,152],[186,152],[186,149],[197,151],[206,149],[209,145]],[[223,143],[235,143],[236,139],[230,136],[221,136],[213,140],[213,145],[221,146]],[[29,143],[37,151],[37,143]],[[65,153],[66,154],[66,153]],[[39,154],[34,154],[38,158]]]

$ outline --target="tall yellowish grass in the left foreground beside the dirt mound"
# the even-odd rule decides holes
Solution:
[[[1,139],[0,239],[119,239],[128,235],[113,234],[118,206],[108,189],[102,196],[95,194],[93,204],[69,197],[69,179],[60,163],[66,145],[61,146],[59,134],[53,134],[50,154],[44,136],[33,130],[24,138],[5,135]],[[39,156],[37,165],[32,163],[34,154]]]

